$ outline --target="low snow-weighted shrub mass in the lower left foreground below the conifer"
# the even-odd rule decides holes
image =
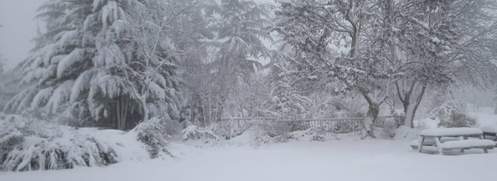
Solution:
[[[137,132],[73,128],[6,115],[0,119],[0,170],[58,170],[150,159],[149,146],[140,142]]]

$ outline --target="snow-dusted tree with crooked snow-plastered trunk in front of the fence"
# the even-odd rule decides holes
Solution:
[[[281,36],[281,46],[291,47],[298,59],[293,77],[314,80],[317,87],[331,88],[331,94],[360,93],[369,105],[361,138],[375,137],[373,122],[379,106],[388,98],[388,85],[395,75],[375,39],[368,39],[375,30],[372,19],[378,7],[369,0],[276,0],[275,17],[269,30]],[[347,53],[336,53],[336,49]],[[290,69],[290,68],[287,68]],[[392,79],[390,79],[392,78]],[[340,85],[341,84],[341,85]]]

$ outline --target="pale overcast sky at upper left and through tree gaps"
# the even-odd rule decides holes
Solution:
[[[31,39],[36,36],[36,9],[47,0],[0,0],[0,54],[8,61],[6,69],[13,68],[19,61],[26,58],[29,50],[34,47]],[[255,0],[267,2],[271,0]],[[40,26],[42,26],[40,24]],[[43,28],[43,27],[41,27]],[[269,46],[269,42],[264,42]],[[268,60],[259,60],[268,63]]]

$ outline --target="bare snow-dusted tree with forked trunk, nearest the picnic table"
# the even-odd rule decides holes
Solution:
[[[413,126],[429,86],[471,84],[485,87],[497,76],[497,24],[493,0],[386,0],[378,4],[378,46],[384,47],[405,110]]]

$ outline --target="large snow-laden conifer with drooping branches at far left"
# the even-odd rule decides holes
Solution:
[[[173,43],[164,39],[163,30],[158,29],[164,25],[154,24],[157,23],[154,20],[172,21],[175,12],[168,11],[172,16],[161,18],[148,13],[150,7],[161,11],[174,7],[158,0],[143,2],[51,0],[41,6],[42,13],[37,17],[47,23],[47,32],[35,39],[35,49],[18,65],[26,74],[21,83],[31,86],[17,94],[4,110],[21,112],[40,108],[51,114],[74,116],[80,125],[98,123],[119,129],[129,129],[136,121],[146,119],[147,110],[153,116],[174,114],[178,69],[172,60],[160,63],[161,66],[151,62],[166,59],[174,49]],[[147,21],[137,22],[134,15]],[[137,23],[144,23],[142,29],[137,28]],[[125,39],[132,33],[141,34]],[[145,42],[150,39],[144,38],[153,35],[161,35],[156,36],[161,39],[151,41],[156,51],[164,51],[160,56],[145,51],[151,47],[144,47],[150,45]],[[145,84],[150,89],[143,89],[144,84],[133,82],[137,77],[126,76],[116,68],[136,70],[140,67],[137,65],[144,63],[144,57],[150,63],[146,67],[154,70],[144,71],[147,72]],[[136,90],[150,91],[140,93],[150,93],[150,97],[137,96]],[[142,104],[143,99],[147,99],[146,104]]]

